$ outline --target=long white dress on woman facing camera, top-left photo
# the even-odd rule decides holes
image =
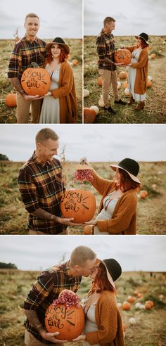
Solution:
[[[46,65],[48,70],[49,64]],[[58,67],[51,75],[51,86],[49,91],[59,87],[59,70]],[[41,108],[39,124],[59,124],[60,123],[60,108],[59,98],[53,96],[45,96]]]

